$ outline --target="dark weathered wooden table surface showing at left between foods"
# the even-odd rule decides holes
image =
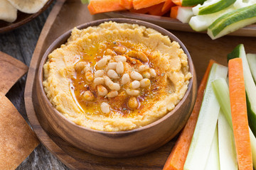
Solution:
[[[53,4],[55,4],[55,1]],[[29,66],[36,42],[53,4],[30,23],[8,33],[0,34],[0,51],[15,57]],[[24,103],[25,84],[26,75],[11,88],[6,96],[14,103],[14,106],[28,123]],[[68,167],[40,144],[17,169],[68,169]]]

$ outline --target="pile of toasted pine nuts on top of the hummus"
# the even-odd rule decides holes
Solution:
[[[136,109],[139,106],[137,97],[141,93],[139,88],[149,88],[151,85],[150,78],[156,77],[156,71],[146,64],[141,64],[136,71],[125,72],[126,56],[142,63],[149,62],[144,52],[136,52],[134,50],[127,52],[125,47],[114,47],[113,50],[109,48],[105,50],[105,55],[95,64],[95,71],[87,67],[86,62],[76,63],[75,70],[84,72],[86,81],[96,87],[97,96],[114,98],[118,96],[119,91],[122,89],[129,95],[129,108]],[[89,90],[85,91],[82,97],[85,101],[95,100],[95,95]],[[102,113],[110,113],[111,111],[110,104],[106,102],[102,102],[100,108]]]

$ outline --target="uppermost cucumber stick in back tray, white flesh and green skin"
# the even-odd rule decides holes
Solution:
[[[203,5],[198,4],[193,7],[193,13],[195,15],[206,15],[210,13],[216,13],[222,11],[228,6],[235,3],[235,0],[208,0],[203,3]]]

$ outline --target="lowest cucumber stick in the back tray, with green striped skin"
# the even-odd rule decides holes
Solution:
[[[208,27],[207,33],[214,40],[255,22],[256,4],[253,4],[220,16]]]

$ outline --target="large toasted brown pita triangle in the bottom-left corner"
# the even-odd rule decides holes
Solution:
[[[11,101],[1,93],[0,102],[0,169],[16,169],[39,141]]]

